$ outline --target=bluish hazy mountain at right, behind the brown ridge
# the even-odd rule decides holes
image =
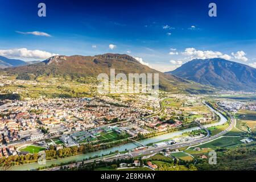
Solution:
[[[225,59],[195,59],[183,64],[170,75],[232,90],[256,89],[256,69]]]

